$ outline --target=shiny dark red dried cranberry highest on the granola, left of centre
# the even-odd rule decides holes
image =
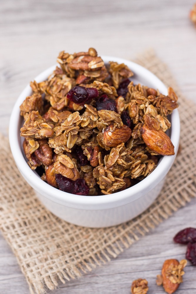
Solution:
[[[76,104],[83,104],[96,97],[98,97],[96,88],[85,88],[83,86],[76,86],[67,93],[67,98]]]

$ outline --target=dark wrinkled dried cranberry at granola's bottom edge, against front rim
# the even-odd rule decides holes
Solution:
[[[84,179],[79,178],[76,181],[72,181],[61,174],[56,174],[55,177],[59,190],[76,195],[88,195],[89,187]]]

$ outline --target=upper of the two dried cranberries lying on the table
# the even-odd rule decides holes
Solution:
[[[185,228],[178,232],[173,238],[174,242],[180,244],[188,244],[196,242],[196,228]]]

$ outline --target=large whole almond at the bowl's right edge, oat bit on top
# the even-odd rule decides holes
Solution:
[[[141,128],[142,138],[145,144],[160,155],[174,155],[174,146],[162,130],[149,129],[146,124]]]

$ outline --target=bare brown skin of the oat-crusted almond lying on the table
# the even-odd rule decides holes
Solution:
[[[163,268],[161,271],[163,278],[163,288],[165,289],[165,292],[167,292],[168,294],[174,293],[180,285],[178,283],[172,283],[166,276],[168,268],[177,265],[179,265],[179,261],[177,259],[167,259],[163,263]]]

